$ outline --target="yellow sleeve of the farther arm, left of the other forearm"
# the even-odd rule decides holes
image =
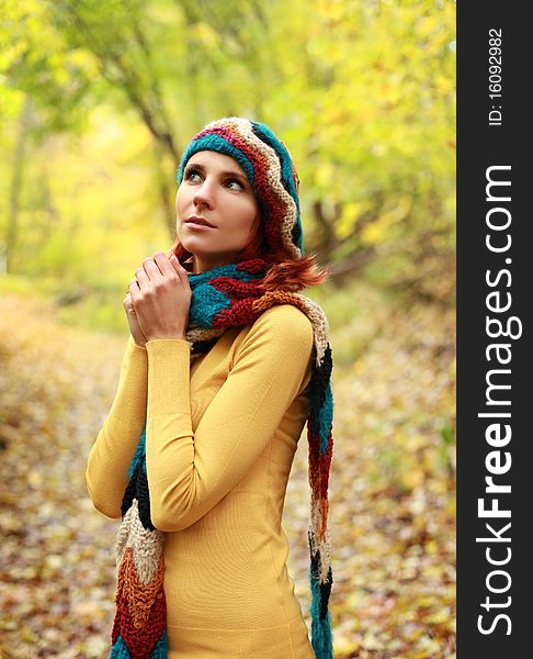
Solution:
[[[127,470],[146,421],[148,354],[129,336],[110,413],[94,442],[86,471],[94,507],[111,518],[121,516]]]

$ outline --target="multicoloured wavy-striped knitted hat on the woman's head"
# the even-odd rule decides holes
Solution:
[[[300,258],[299,180],[283,142],[263,123],[239,116],[212,121],[185,148],[178,169],[179,183],[189,158],[201,150],[218,152],[237,160],[256,191],[269,246],[290,259]]]

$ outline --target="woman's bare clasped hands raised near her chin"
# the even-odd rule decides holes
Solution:
[[[156,252],[135,275],[128,283],[133,312],[126,309],[127,295],[124,300],[135,343],[144,346],[154,338],[184,338],[192,293],[186,270],[177,257]]]

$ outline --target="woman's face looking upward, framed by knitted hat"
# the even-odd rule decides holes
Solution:
[[[175,212],[178,238],[193,255],[194,272],[235,263],[260,215],[242,167],[211,150],[189,159],[175,196]]]

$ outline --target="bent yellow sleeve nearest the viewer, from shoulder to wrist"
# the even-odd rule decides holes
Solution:
[[[146,461],[156,528],[172,532],[194,524],[245,477],[300,392],[313,340],[310,321],[295,306],[265,311],[195,433],[189,344],[147,342]]]

